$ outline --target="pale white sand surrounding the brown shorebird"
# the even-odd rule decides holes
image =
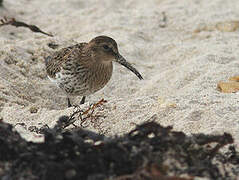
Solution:
[[[239,95],[216,89],[219,81],[239,75],[238,27],[232,32],[216,28],[218,23],[239,20],[238,0],[5,0],[4,6],[1,17],[15,17],[55,35],[0,28],[4,121],[52,127],[60,115],[69,115],[72,109],[66,108],[64,94],[46,77],[43,57],[54,51],[47,44],[62,48],[108,35],[144,80],[114,64],[111,81],[86,99],[108,100],[101,132],[122,134],[157,115],[162,125],[175,130],[229,132],[239,144]],[[167,17],[164,28],[162,12]],[[30,113],[31,107],[38,112]],[[39,140],[34,133],[17,129],[28,140]]]

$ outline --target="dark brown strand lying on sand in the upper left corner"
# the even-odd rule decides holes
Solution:
[[[21,22],[21,21],[16,21],[15,18],[8,19],[7,17],[3,17],[3,19],[0,19],[0,27],[1,26],[5,26],[5,25],[12,25],[12,26],[15,26],[15,27],[26,27],[26,28],[30,29],[31,31],[33,31],[33,32],[42,33],[42,34],[45,34],[47,36],[53,37],[52,34],[49,34],[49,33],[46,33],[44,31],[42,31],[37,26],[35,26],[35,25],[28,25],[28,24],[26,24],[24,22]]]

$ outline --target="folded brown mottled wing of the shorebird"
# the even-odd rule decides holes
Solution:
[[[81,51],[85,45],[87,45],[87,43],[79,43],[60,49],[52,56],[48,56],[45,59],[47,75],[51,78],[55,78],[56,73],[61,70],[61,67],[65,62],[74,59],[75,56],[80,58]]]

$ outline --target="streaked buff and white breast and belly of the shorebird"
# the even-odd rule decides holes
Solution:
[[[92,67],[64,66],[55,78],[49,78],[68,95],[87,96],[102,89],[109,82],[112,71],[112,63]]]

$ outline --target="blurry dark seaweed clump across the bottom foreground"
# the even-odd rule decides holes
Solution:
[[[186,136],[146,122],[120,137],[84,129],[44,130],[45,142],[27,142],[0,122],[0,179],[187,180],[236,179],[239,153],[230,134]],[[220,149],[223,148],[223,151]]]

